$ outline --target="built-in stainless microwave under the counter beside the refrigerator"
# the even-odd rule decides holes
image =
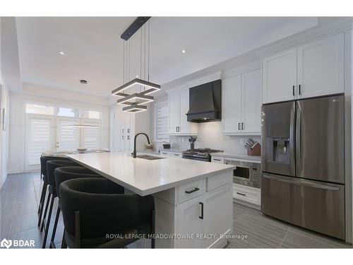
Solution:
[[[233,170],[234,183],[256,188],[261,187],[260,163],[225,159],[225,164],[235,165],[235,170]]]

